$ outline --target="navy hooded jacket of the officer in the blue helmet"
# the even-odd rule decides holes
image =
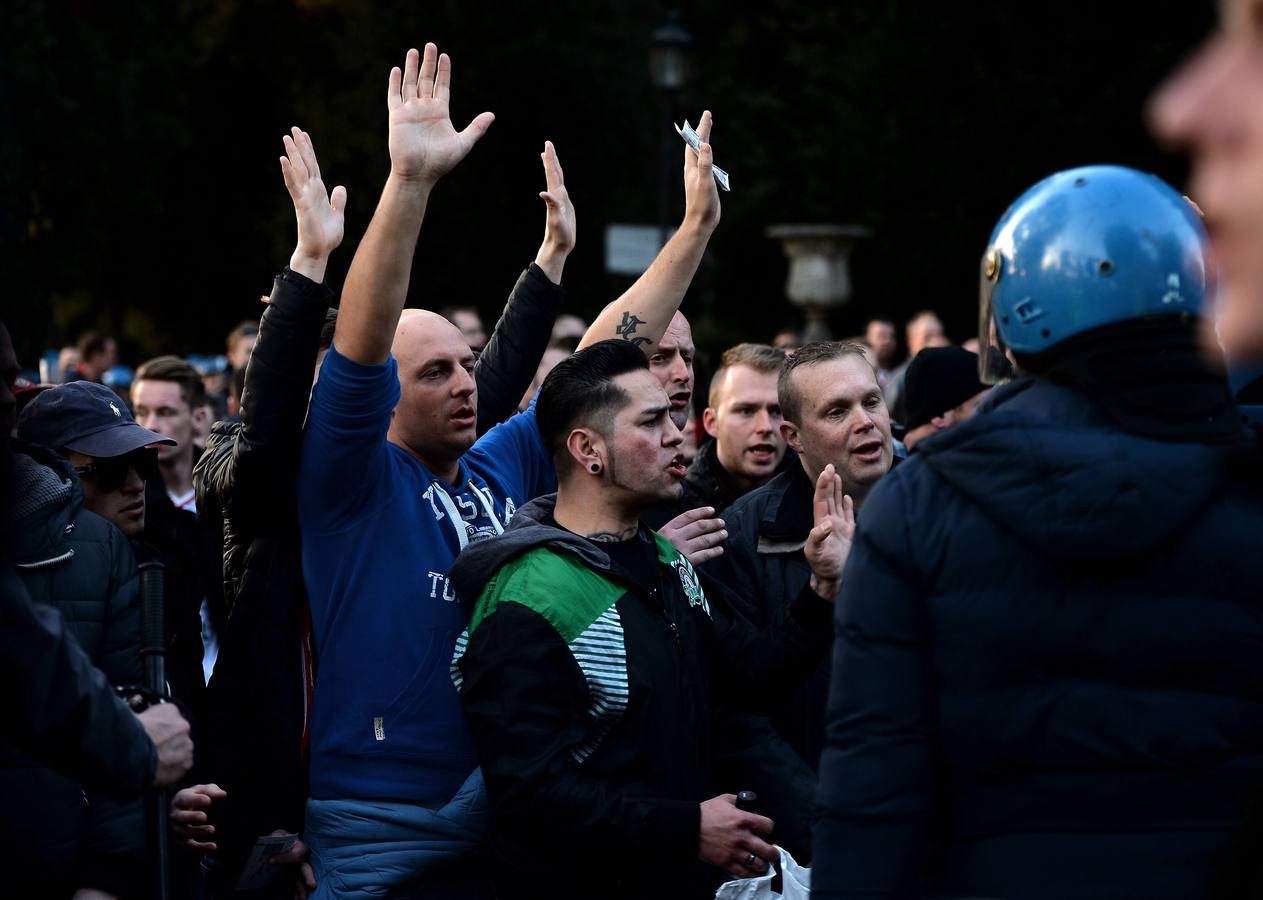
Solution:
[[[837,602],[812,895],[1190,897],[1263,770],[1235,447],[1021,379],[879,483]]]

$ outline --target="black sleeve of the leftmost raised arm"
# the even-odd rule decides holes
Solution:
[[[220,429],[220,439],[198,459],[198,507],[216,506],[240,528],[269,510],[293,506],[320,332],[332,299],[327,284],[288,268],[277,275],[245,370],[241,428]],[[249,543],[249,536],[239,539]]]

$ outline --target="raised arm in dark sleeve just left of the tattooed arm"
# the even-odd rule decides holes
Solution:
[[[539,360],[548,348],[553,322],[565,298],[561,274],[566,258],[575,249],[575,206],[566,192],[552,141],[544,143],[544,151],[539,155],[547,184],[547,189],[539,192],[547,210],[544,240],[536,261],[513,285],[491,340],[474,366],[479,434],[518,410],[518,400],[530,388]]]

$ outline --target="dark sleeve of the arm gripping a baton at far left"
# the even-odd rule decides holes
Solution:
[[[117,799],[150,781],[158,754],[115,697],[57,610],[32,603],[11,569],[0,572],[0,678],[10,698],[4,740],[43,765]]]

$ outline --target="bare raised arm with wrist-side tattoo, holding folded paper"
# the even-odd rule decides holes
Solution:
[[[601,311],[580,341],[580,348],[597,341],[623,338],[648,353],[679,309],[710,236],[719,225],[719,187],[711,168],[710,134],[711,114],[707,110],[697,125],[701,151],[695,154],[691,148],[685,148],[685,221],[635,284]]]

